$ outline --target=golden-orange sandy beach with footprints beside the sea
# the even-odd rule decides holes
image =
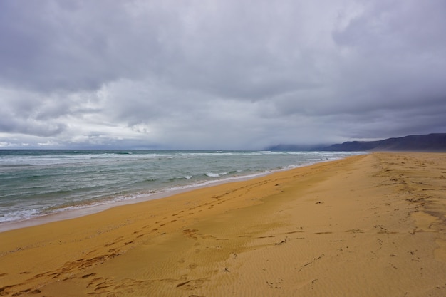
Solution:
[[[0,233],[0,296],[446,296],[446,154],[373,153]]]

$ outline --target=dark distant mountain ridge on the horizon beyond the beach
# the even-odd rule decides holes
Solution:
[[[348,141],[337,145],[304,147],[298,145],[276,145],[269,150],[323,150],[323,151],[421,151],[446,152],[446,133],[409,135],[377,141]]]

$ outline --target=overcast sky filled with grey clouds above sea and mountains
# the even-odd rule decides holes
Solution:
[[[445,0],[2,0],[0,149],[446,132]]]

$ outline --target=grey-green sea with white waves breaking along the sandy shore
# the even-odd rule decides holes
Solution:
[[[0,226],[348,155],[358,152],[0,150]]]

